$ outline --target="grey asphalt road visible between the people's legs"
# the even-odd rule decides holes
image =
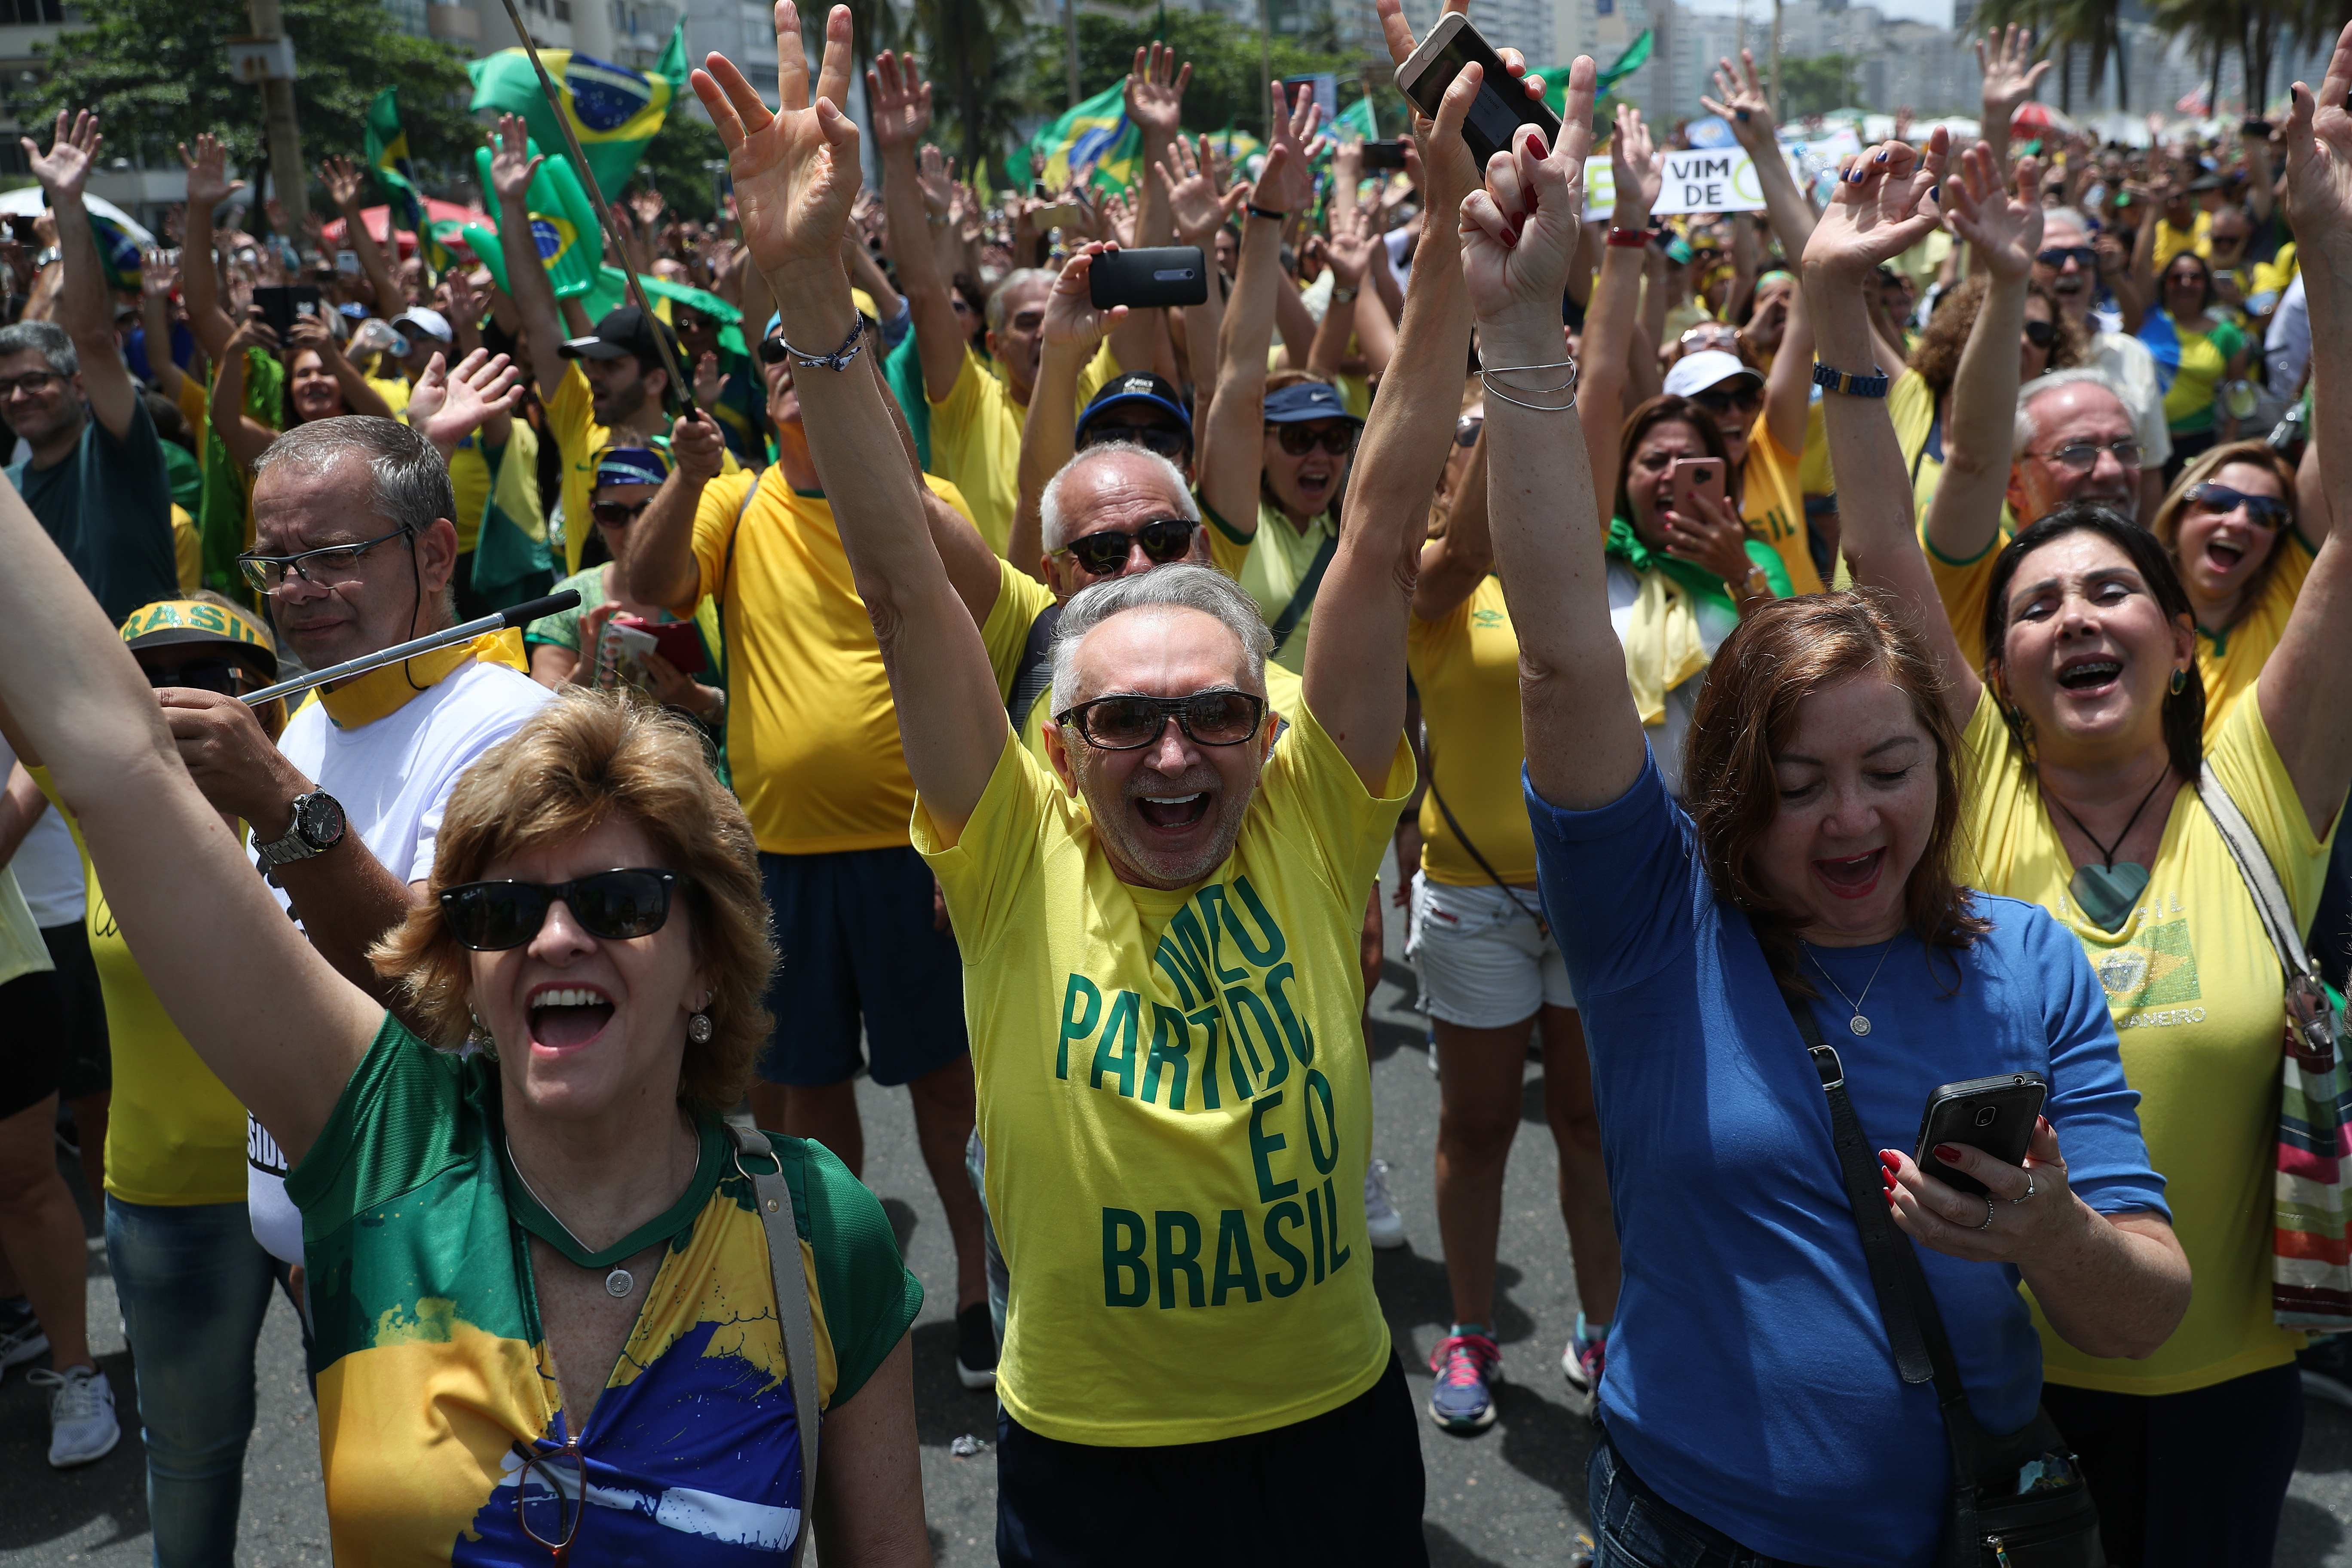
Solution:
[[[1444,1333],[1446,1288],[1430,1218],[1430,1150],[1437,1079],[1428,1072],[1421,1018],[1409,1011],[1411,973],[1392,929],[1388,980],[1374,1006],[1374,1100],[1378,1152],[1411,1246],[1374,1253],[1390,1328],[1406,1349],[1416,1399],[1428,1399],[1428,1352]],[[868,1180],[882,1192],[908,1262],[931,1288],[915,1324],[915,1415],[924,1502],[941,1568],[995,1561],[995,1465],[988,1453],[953,1458],[957,1436],[995,1436],[995,1403],[955,1382],[953,1258],[903,1093],[861,1088]],[[1543,1128],[1541,1070],[1529,1067],[1524,1131],[1510,1166],[1498,1274],[1503,1373],[1501,1420],[1475,1439],[1421,1427],[1428,1460],[1428,1542],[1437,1568],[1564,1563],[1583,1516],[1585,1420],[1569,1406],[1559,1347],[1576,1324],[1576,1284],[1555,1204],[1555,1159]],[[96,1229],[92,1227],[92,1237]],[[94,1342],[129,1408],[129,1356],[92,1241]],[[245,1467],[245,1563],[327,1563],[318,1490],[318,1420],[301,1378],[294,1316],[278,1302],[263,1335],[261,1418]],[[136,1436],[103,1462],[56,1476],[42,1465],[47,1422],[26,1380],[0,1385],[0,1568],[31,1563],[148,1561],[143,1472]],[[2310,1406],[2303,1465],[2286,1505],[2284,1568],[2352,1568],[2352,1413]]]

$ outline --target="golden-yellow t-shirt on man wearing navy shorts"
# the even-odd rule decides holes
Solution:
[[[953,484],[924,482],[969,517]],[[694,512],[694,592],[666,609],[684,618],[703,595],[720,602],[727,769],[760,849],[816,856],[906,844],[915,780],[882,646],[826,498],[795,491],[779,465],[720,475]]]

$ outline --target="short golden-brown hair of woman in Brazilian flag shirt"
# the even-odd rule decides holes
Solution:
[[[433,1044],[456,1048],[473,1023],[470,969],[442,924],[440,893],[480,882],[494,860],[576,839],[616,816],[644,830],[661,870],[677,872],[696,959],[710,971],[715,1030],[706,1044],[687,1041],[677,1098],[727,1114],[769,1034],[762,997],[776,945],[760,849],[743,806],[710,773],[701,736],[649,703],[567,686],[482,752],[449,792],[426,903],[367,957],[405,992]]]

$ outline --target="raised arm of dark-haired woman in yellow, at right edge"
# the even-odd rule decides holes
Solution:
[[[2296,82],[2286,118],[2286,219],[2303,237],[2312,306],[2312,447],[2324,494],[2352,494],[2352,24],[2336,38],[2317,103]],[[2279,649],[2263,665],[2263,724],[2296,780],[2314,832],[2352,785],[2352,538],[2328,529],[2296,595]]]

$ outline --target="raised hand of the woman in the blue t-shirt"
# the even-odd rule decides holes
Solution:
[[[1486,162],[1486,183],[1461,205],[1463,282],[1479,324],[1510,324],[1515,346],[1559,346],[1559,299],[1569,287],[1569,261],[1585,214],[1585,155],[1592,150],[1590,54],[1569,66],[1569,103],[1559,118],[1559,146],[1522,125],[1510,153]],[[1477,96],[1475,68],[1463,68],[1439,106],[1439,141],[1446,120],[1470,110]],[[1435,195],[1430,209],[1435,212]]]

